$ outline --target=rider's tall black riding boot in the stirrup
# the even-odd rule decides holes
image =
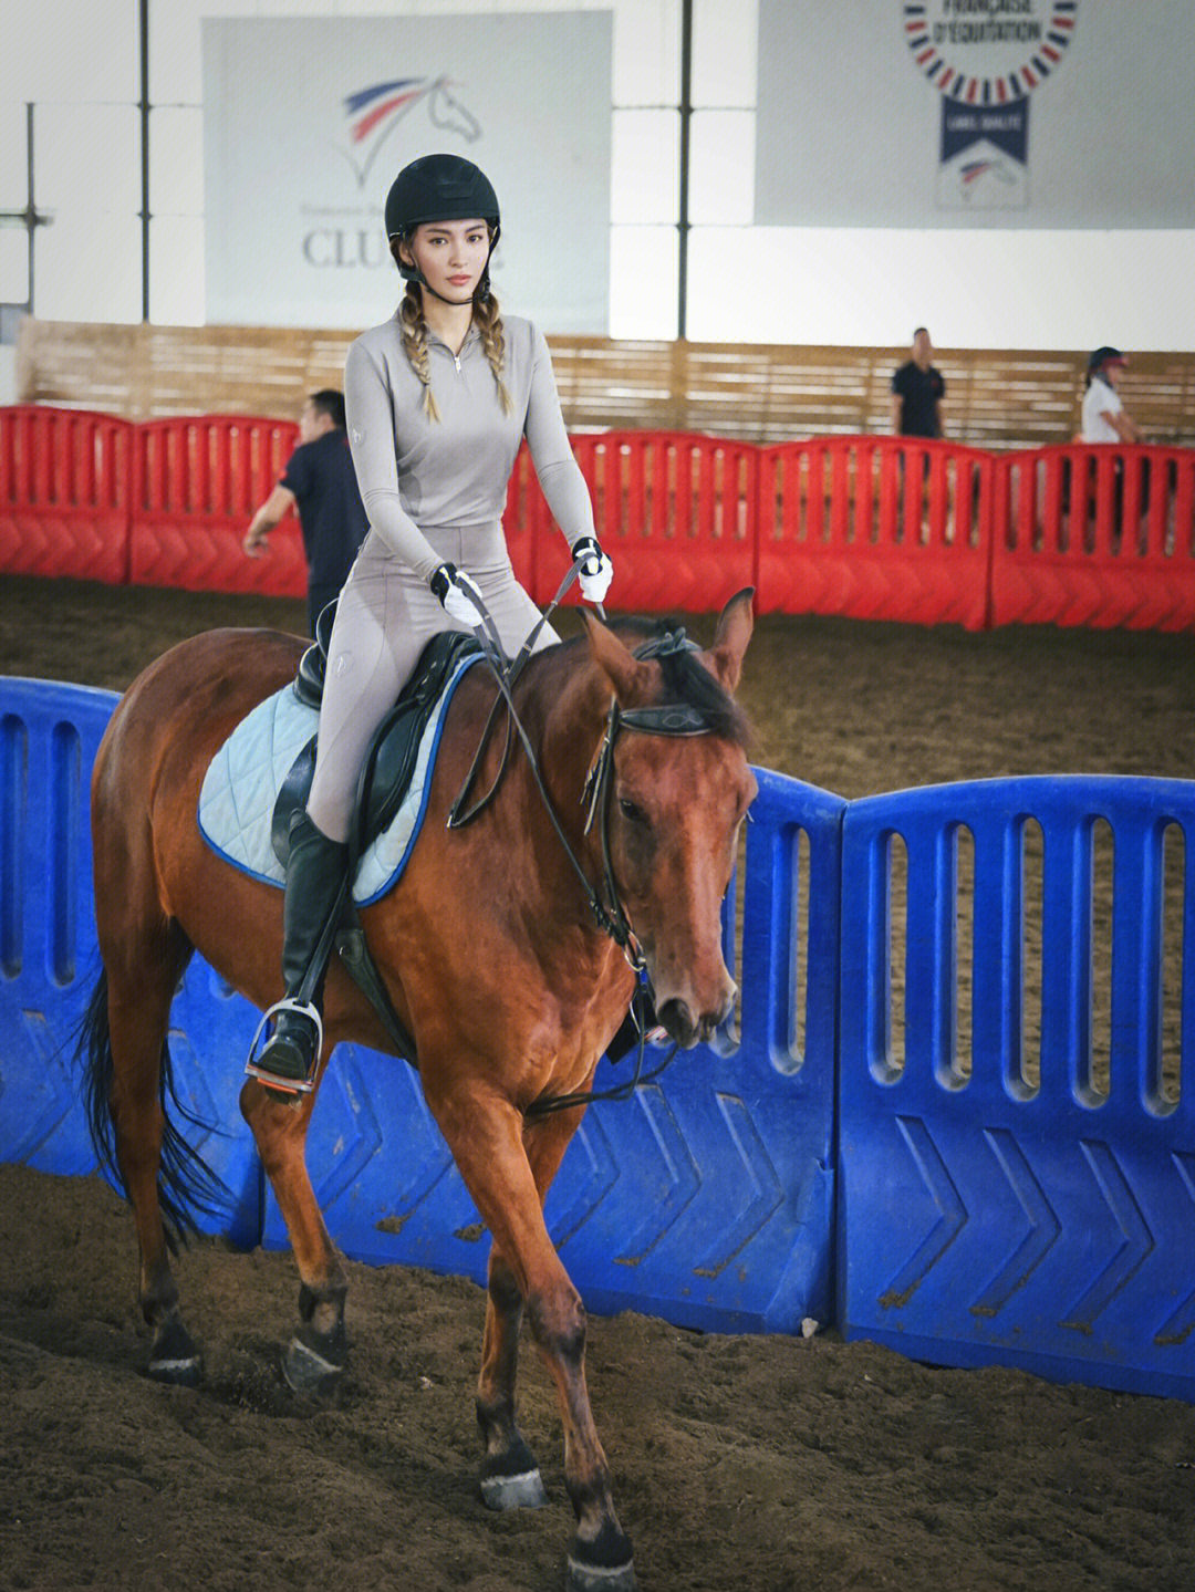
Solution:
[[[329,841],[302,807],[291,815],[290,844],[282,912],[286,993],[266,1013],[274,1033],[258,1057],[250,1055],[245,1071],[285,1094],[306,1094],[323,1043],[320,1000],[348,885],[348,847]]]

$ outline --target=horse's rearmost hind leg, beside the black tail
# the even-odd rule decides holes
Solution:
[[[169,1251],[186,1231],[185,1202],[196,1189],[186,1186],[181,1167],[162,1164],[167,1140],[181,1151],[165,1118],[162,1086],[170,1083],[170,1003],[189,957],[189,942],[172,923],[137,955],[105,962],[86,1019],[92,1137],[134,1212],[142,1315],[153,1331],[148,1371],[159,1382],[183,1385],[202,1379],[202,1356],[180,1315]]]

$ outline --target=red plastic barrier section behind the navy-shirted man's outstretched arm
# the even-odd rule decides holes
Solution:
[[[293,514],[250,559],[242,541],[294,451],[291,420],[186,416],[137,427],[129,579],[186,591],[302,597],[307,565]]]

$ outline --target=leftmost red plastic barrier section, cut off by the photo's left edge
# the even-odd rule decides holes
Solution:
[[[111,414],[0,409],[0,570],[127,581],[132,438]]]

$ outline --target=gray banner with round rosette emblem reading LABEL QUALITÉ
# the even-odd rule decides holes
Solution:
[[[1173,0],[759,0],[761,226],[1195,226]]]

